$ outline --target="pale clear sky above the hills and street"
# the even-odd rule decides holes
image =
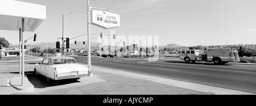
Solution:
[[[44,5],[47,20],[33,33],[37,41],[56,42],[62,37],[62,14],[86,12],[86,0],[18,0]],[[121,26],[105,30],[91,25],[91,33],[114,30],[122,36],[159,36],[160,46],[176,43],[183,46],[256,44],[255,0],[91,0],[90,5],[110,8],[121,15]],[[65,17],[65,37],[86,34],[86,14]],[[0,30],[0,37],[19,41],[19,32]],[[98,36],[92,36],[98,38]],[[87,41],[81,37],[76,41]],[[93,40],[92,42],[96,42]],[[28,42],[30,43],[30,42]]]

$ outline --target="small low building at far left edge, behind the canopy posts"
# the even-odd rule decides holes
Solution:
[[[3,57],[7,56],[19,56],[19,49],[18,48],[3,48],[1,50],[1,55]]]

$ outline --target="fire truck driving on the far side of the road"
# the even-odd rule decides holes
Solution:
[[[196,61],[209,61],[214,64],[226,64],[229,62],[238,62],[240,58],[237,50],[232,49],[213,49],[213,50],[182,50],[180,60],[186,63],[195,63]]]

